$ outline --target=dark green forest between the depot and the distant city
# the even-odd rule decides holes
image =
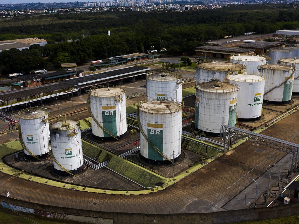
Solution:
[[[44,38],[44,47],[0,53],[3,76],[38,68],[78,65],[129,53],[166,48],[172,55],[194,54],[210,39],[245,32],[298,29],[299,10],[292,5],[242,5],[194,11],[132,12],[110,8],[90,13],[60,13],[0,20],[0,40]],[[111,31],[111,36],[107,31]],[[65,42],[77,40],[76,42]],[[55,43],[58,42],[58,43]],[[46,58],[46,59],[45,59]]]

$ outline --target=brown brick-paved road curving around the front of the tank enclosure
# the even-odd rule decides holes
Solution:
[[[299,143],[299,138],[296,136],[298,119],[299,112],[295,112],[269,127],[262,134]],[[149,214],[222,211],[224,210],[222,206],[240,191],[237,188],[227,188],[274,152],[274,149],[246,142],[164,191],[148,195],[104,195],[72,191],[3,173],[0,173],[0,191],[9,190],[11,197],[20,200],[28,200],[30,197],[32,202],[96,211]],[[273,155],[275,158],[282,156],[281,152]],[[272,163],[273,161],[267,161],[263,163],[263,167]],[[262,172],[256,171],[253,175],[257,176]],[[273,175],[277,173],[274,172]],[[93,202],[99,203],[93,206],[91,205]],[[239,208],[243,206],[244,201],[241,200]]]

